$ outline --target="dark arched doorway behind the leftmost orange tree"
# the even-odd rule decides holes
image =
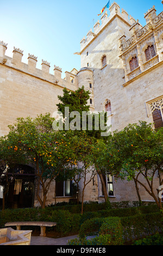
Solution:
[[[34,204],[35,170],[34,168],[18,164],[10,170],[13,176],[6,197],[6,205],[10,209],[30,208]]]

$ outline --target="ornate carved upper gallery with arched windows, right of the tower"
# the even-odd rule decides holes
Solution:
[[[119,38],[126,82],[163,61],[163,11],[156,15],[153,6],[144,15],[144,27],[137,20],[129,29],[131,37],[123,33]]]

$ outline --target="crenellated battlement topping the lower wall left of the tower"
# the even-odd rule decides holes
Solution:
[[[57,84],[61,87],[66,87],[67,89],[76,90],[77,88],[77,72],[75,69],[71,72],[65,72],[65,78],[61,78],[62,69],[59,66],[54,65],[54,74],[49,73],[51,63],[47,60],[42,59],[41,69],[36,68],[37,57],[33,54],[28,53],[28,64],[22,62],[23,51],[20,48],[14,46],[13,56],[8,57],[5,55],[7,50],[7,45],[5,42],[0,41],[0,64],[7,66],[8,68],[16,69],[20,72],[26,73],[31,76],[35,76],[47,82]],[[68,74],[68,75],[67,75]]]

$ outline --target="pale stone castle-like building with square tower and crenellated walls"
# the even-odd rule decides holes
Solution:
[[[149,9],[144,27],[115,2],[109,11],[80,41],[76,54],[81,57],[81,69],[66,71],[64,79],[58,66],[54,65],[54,75],[49,74],[47,61],[42,60],[42,69],[37,69],[37,57],[31,54],[28,64],[22,63],[23,51],[19,48],[14,47],[12,58],[6,56],[7,44],[0,41],[0,136],[7,134],[7,126],[17,117],[56,111],[58,95],[65,87],[90,90],[91,110],[107,111],[111,131],[139,120],[163,126],[163,11],[156,14],[154,6]],[[115,182],[109,176],[106,183],[111,201],[138,200],[134,182]],[[157,185],[155,182],[155,188]],[[18,193],[21,177],[14,186],[12,191]],[[68,202],[70,182],[57,186],[57,201]],[[54,187],[55,182],[47,204],[54,202]],[[140,194],[142,200],[153,200],[141,187]],[[85,200],[103,202],[98,175],[86,187]]]

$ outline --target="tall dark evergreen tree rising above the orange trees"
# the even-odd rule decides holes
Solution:
[[[82,130],[85,130],[84,134],[87,136],[87,138],[90,138],[91,141],[94,141],[93,142],[94,149],[92,148],[92,151],[91,151],[91,153],[93,153],[93,152],[94,153],[93,153],[93,156],[91,155],[91,157],[96,162],[96,159],[98,159],[98,157],[99,157],[100,151],[98,149],[96,151],[95,141],[103,141],[103,145],[104,145],[104,143],[107,141],[107,137],[101,137],[101,132],[102,132],[101,125],[98,125],[98,127],[96,127],[96,125],[95,125],[96,124],[95,119],[96,120],[98,119],[99,124],[100,124],[101,118],[100,118],[99,113],[92,114],[90,112],[90,106],[87,105],[87,100],[90,99],[90,93],[89,93],[89,91],[86,91],[84,89],[84,86],[82,88],[79,88],[75,92],[69,92],[66,88],[63,90],[63,92],[64,92],[63,96],[58,96],[58,99],[60,100],[60,102],[57,104],[58,111],[60,111],[62,113],[64,119],[65,119],[65,107],[69,107],[70,113],[72,113],[73,111],[78,111],[78,113],[80,114],[80,125],[78,127],[73,127],[73,129],[74,129],[73,136],[74,135],[79,136],[78,139],[80,140],[80,136],[82,135]],[[84,112],[86,112],[86,117],[84,117],[84,115],[83,115]],[[104,125],[106,128],[106,113],[103,113],[103,114],[104,114]],[[92,120],[92,130],[89,129],[89,119]],[[69,119],[69,124],[71,124],[72,120],[73,120],[73,118]],[[86,120],[85,127],[83,127],[84,120]],[[64,128],[65,128],[65,126],[64,126]],[[71,128],[72,127],[70,125],[70,129]],[[77,130],[76,130],[76,128],[77,128]],[[90,152],[89,152],[89,155],[90,155]],[[102,175],[103,168],[101,169],[100,168],[101,166],[100,165],[98,166],[98,164],[96,164],[96,167],[97,167],[96,168],[97,173],[102,182],[104,198],[106,201],[108,199],[108,193],[107,193],[106,184],[105,184],[105,181],[104,181],[103,175]],[[76,167],[73,167],[73,170],[75,170],[75,168]],[[76,169],[76,172],[79,173],[78,169]],[[77,176],[79,177],[80,175],[78,174]],[[76,178],[77,176],[73,175],[73,179],[76,179],[77,187],[79,187],[78,185],[79,185],[80,177],[79,177],[79,179],[77,179]]]

